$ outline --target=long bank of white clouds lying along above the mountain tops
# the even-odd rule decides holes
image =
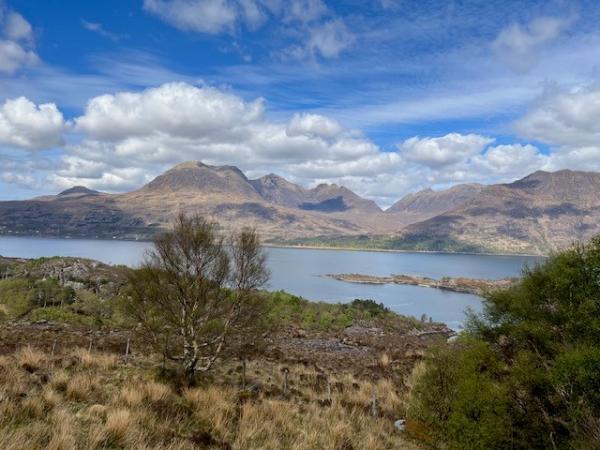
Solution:
[[[556,144],[551,153],[532,144],[497,144],[493,137],[473,133],[415,136],[383,149],[333,118],[295,113],[274,121],[261,98],[248,101],[182,82],[94,97],[69,123],[56,105],[9,100],[0,107],[0,142],[32,152],[60,145],[66,137],[64,155],[48,178],[56,189],[75,184],[134,189],[177,163],[201,160],[235,164],[249,176],[277,172],[303,185],[335,182],[387,206],[429,186],[511,181],[537,169],[574,164],[589,167],[600,161],[598,149],[588,145],[599,132],[598,122],[588,120],[596,112],[597,95],[588,89],[550,96],[517,124],[524,136]],[[578,115],[581,111],[585,114]],[[6,171],[3,179],[28,181],[12,181]]]

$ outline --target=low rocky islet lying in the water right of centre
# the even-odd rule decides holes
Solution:
[[[363,284],[407,284],[412,286],[431,287],[445,289],[447,291],[462,292],[465,294],[483,295],[485,292],[495,289],[510,287],[517,278],[502,278],[499,280],[486,280],[475,278],[451,278],[440,279],[419,277],[413,275],[390,275],[387,277],[364,275],[358,273],[328,274],[327,277],[334,280],[347,281],[349,283]]]

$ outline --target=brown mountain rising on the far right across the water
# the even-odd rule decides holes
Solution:
[[[600,173],[538,171],[401,231],[402,245],[548,253],[600,232]]]

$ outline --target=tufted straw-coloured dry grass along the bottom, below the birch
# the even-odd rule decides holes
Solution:
[[[0,358],[0,449],[416,448],[394,429],[404,404],[391,381],[286,367],[287,393],[268,361],[248,364],[248,390],[236,364],[180,390],[112,355],[23,348]]]

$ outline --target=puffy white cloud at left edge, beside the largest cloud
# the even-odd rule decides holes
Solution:
[[[58,146],[65,122],[55,104],[35,105],[25,97],[0,106],[0,144],[28,150]]]

